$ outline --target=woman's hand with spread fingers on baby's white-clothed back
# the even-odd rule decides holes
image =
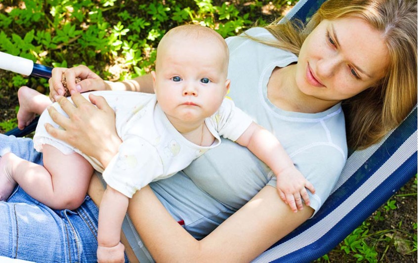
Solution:
[[[74,93],[71,98],[75,105],[65,97],[57,97],[57,102],[69,118],[59,114],[54,107],[48,108],[52,120],[65,130],[45,124],[46,131],[52,137],[96,158],[106,167],[122,143],[115,128],[114,111],[101,96],[90,94],[91,103],[80,93]]]

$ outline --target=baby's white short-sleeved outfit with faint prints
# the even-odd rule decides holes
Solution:
[[[205,119],[205,124],[215,141],[209,147],[196,145],[184,138],[167,119],[154,94],[139,92],[94,91],[104,96],[116,113],[116,130],[123,143],[119,152],[104,170],[94,158],[85,155],[65,142],[54,139],[43,124],[58,127],[47,111],[42,113],[34,136],[35,149],[42,151],[48,144],[64,154],[78,152],[94,169],[103,173],[109,186],[128,197],[152,181],[170,177],[187,167],[205,151],[218,146],[220,136],[236,141],[249,127],[252,119],[234,106],[232,100],[224,99],[219,110]],[[88,94],[83,94],[88,98]],[[53,106],[64,113],[60,106]]]

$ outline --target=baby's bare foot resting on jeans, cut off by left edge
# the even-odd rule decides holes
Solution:
[[[16,186],[12,176],[13,153],[6,153],[0,158],[0,201],[6,201]]]

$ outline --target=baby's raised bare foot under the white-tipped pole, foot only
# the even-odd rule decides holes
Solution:
[[[36,113],[31,110],[34,98],[39,92],[29,87],[23,86],[17,91],[19,99],[19,111],[17,112],[17,127],[23,129],[34,120]]]

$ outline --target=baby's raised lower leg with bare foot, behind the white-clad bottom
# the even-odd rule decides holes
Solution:
[[[19,99],[19,111],[17,112],[17,127],[25,128],[35,118],[36,114],[41,114],[52,102],[46,95],[29,87],[20,87],[17,91]]]

